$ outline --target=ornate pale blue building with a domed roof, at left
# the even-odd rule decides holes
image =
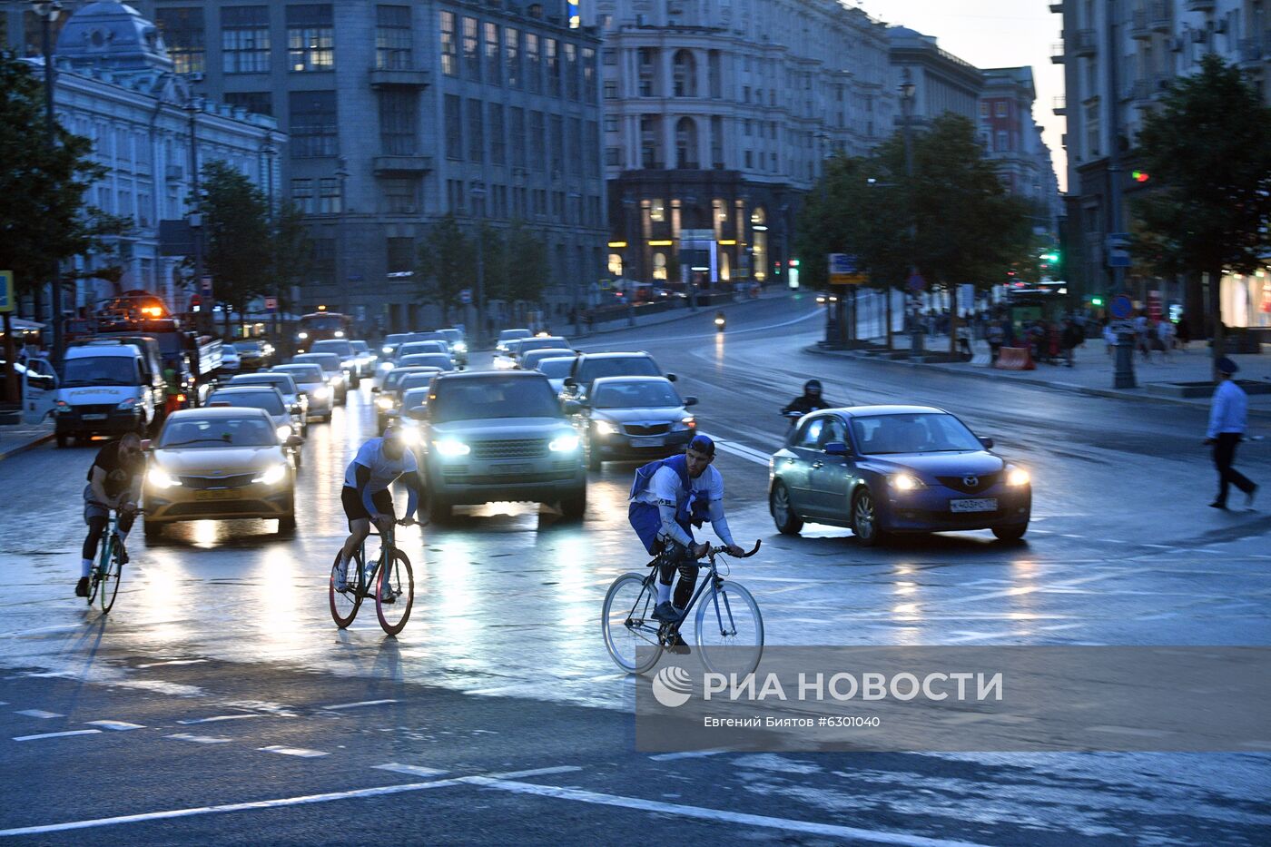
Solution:
[[[20,10],[0,14],[8,14],[4,29],[14,36],[11,48],[31,52],[39,45],[33,14],[27,11],[25,20]],[[93,158],[105,169],[85,201],[132,224],[116,239],[116,256],[75,259],[80,279],[64,306],[90,306],[119,290],[145,289],[186,310],[194,286],[182,270],[192,249],[183,219],[196,163],[226,162],[262,191],[272,191],[286,136],[271,117],[193,94],[173,72],[154,24],[131,6],[86,4],[55,27],[57,121],[90,139]],[[29,61],[42,75],[42,60]],[[122,277],[114,282],[83,276],[102,265],[118,266]]]

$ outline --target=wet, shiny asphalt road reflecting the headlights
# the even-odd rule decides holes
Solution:
[[[819,328],[807,301],[765,301],[735,309],[723,337],[702,314],[581,345],[646,348],[702,398],[733,533],[764,539],[733,576],[756,595],[768,644],[1271,644],[1271,518],[1205,507],[1201,410],[802,352]],[[963,533],[866,551],[833,528],[778,535],[764,462],[784,431],[775,410],[812,375],[840,403],[939,404],[993,436],[1033,473],[1027,542]],[[581,525],[496,504],[403,532],[417,582],[407,630],[385,638],[364,608],[341,633],[325,580],[343,469],[374,435],[370,398],[364,388],[310,426],[294,535],[264,521],[184,524],[149,544],[137,533],[108,619],[71,596],[89,449],[0,463],[0,836],[83,824],[10,837],[1271,838],[1265,754],[636,753],[633,683],[597,626],[609,582],[643,563],[625,523],[632,465],[591,474]],[[1266,478],[1268,458],[1252,441],[1239,464]]]

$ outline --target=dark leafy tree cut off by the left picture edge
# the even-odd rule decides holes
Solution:
[[[43,86],[31,65],[0,51],[0,268],[13,271],[19,296],[38,291],[53,268],[75,256],[109,254],[111,235],[125,219],[85,202],[105,168],[89,159],[89,139],[53,125],[46,144]],[[60,319],[60,315],[55,319]],[[6,345],[13,333],[5,332]],[[14,360],[6,351],[5,360]],[[9,397],[17,396],[13,368],[5,366]]]

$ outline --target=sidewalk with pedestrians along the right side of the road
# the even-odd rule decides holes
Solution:
[[[909,336],[896,334],[897,351],[909,348]],[[1134,375],[1138,388],[1113,388],[1116,365],[1107,355],[1102,338],[1091,338],[1077,348],[1074,366],[1037,364],[1036,370],[996,370],[989,364],[989,345],[979,340],[971,345],[975,357],[970,362],[915,362],[906,359],[891,360],[885,351],[874,350],[825,350],[820,346],[808,347],[808,352],[844,356],[852,359],[883,361],[905,368],[927,368],[942,370],[960,376],[995,379],[999,382],[1027,383],[1051,388],[1075,390],[1096,397],[1116,397],[1122,399],[1152,399],[1183,403],[1209,408],[1213,388],[1209,385],[1182,385],[1183,383],[1210,383],[1210,350],[1202,342],[1195,341],[1187,350],[1174,350],[1168,357],[1159,351],[1152,354],[1152,361],[1145,362],[1141,354],[1135,354]],[[927,336],[927,352],[946,354],[948,336]],[[1232,355],[1230,359],[1240,366],[1237,380],[1267,383],[1271,387],[1271,350],[1262,355]],[[1196,397],[1185,397],[1196,393]],[[1271,417],[1271,393],[1249,394],[1249,415]]]

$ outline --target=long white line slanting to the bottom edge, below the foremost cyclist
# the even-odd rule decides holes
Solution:
[[[714,820],[718,823],[742,824],[747,827],[765,827],[768,829],[783,829],[785,832],[799,832],[815,836],[855,838],[880,844],[904,844],[905,847],[982,847],[965,841],[924,838],[923,836],[878,832],[858,827],[839,827],[835,824],[815,823],[812,820],[793,820],[791,818],[770,818],[768,815],[724,811],[722,809],[703,809],[700,806],[685,806],[677,802],[661,802],[658,800],[644,800],[643,797],[623,797],[613,794],[583,791],[581,788],[561,788],[550,785],[535,785],[533,782],[510,782],[507,780],[480,776],[464,777],[458,781],[488,788],[498,788],[501,791],[511,791],[513,794],[533,794],[540,797],[554,797],[557,800],[577,800],[580,802],[619,806],[623,809],[634,809],[637,811],[680,815],[683,818],[698,818],[700,820]]]

